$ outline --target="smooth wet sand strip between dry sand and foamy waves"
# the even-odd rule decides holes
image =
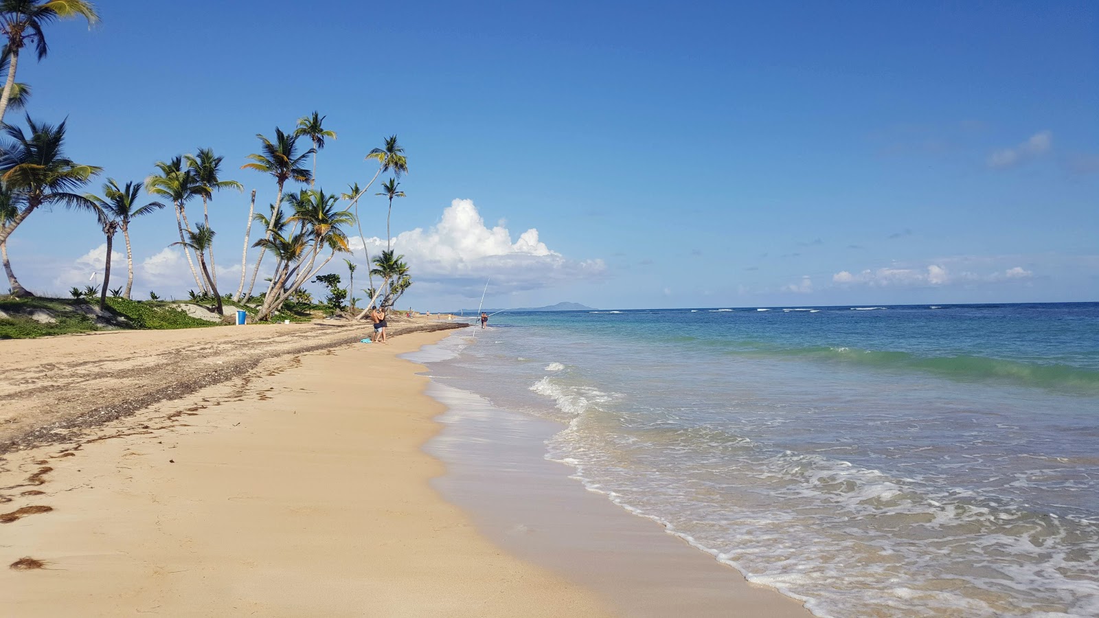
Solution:
[[[430,363],[431,347],[406,357]],[[447,408],[439,418],[445,427],[425,446],[447,467],[432,485],[508,552],[581,583],[622,616],[812,618],[801,600],[748,582],[546,459],[545,440],[565,424],[436,380],[426,393]]]

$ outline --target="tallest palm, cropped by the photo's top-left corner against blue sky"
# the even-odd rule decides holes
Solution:
[[[99,21],[95,7],[86,0],[0,0],[0,33],[8,37],[7,48],[11,55],[8,80],[0,93],[0,122],[14,96],[20,52],[33,43],[42,60],[49,52],[42,27],[59,19],[77,16],[88,20],[89,26]]]

